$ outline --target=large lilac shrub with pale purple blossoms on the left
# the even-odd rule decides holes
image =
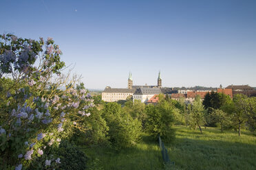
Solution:
[[[63,138],[86,132],[94,107],[76,77],[61,73],[61,50],[52,38],[0,35],[0,169],[54,169]]]

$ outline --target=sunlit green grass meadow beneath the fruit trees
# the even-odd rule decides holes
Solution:
[[[199,131],[175,126],[176,138],[165,143],[171,161],[170,169],[256,169],[256,136],[251,132],[220,132],[215,127]],[[153,170],[164,168],[157,142],[143,136],[134,147],[116,152],[105,147],[84,149],[90,161],[98,160],[96,169]],[[92,164],[92,162],[91,162]]]

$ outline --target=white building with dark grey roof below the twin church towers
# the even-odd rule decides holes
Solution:
[[[160,88],[137,88],[132,97],[133,100],[140,100],[142,103],[146,103],[153,95],[159,95],[160,93]]]

